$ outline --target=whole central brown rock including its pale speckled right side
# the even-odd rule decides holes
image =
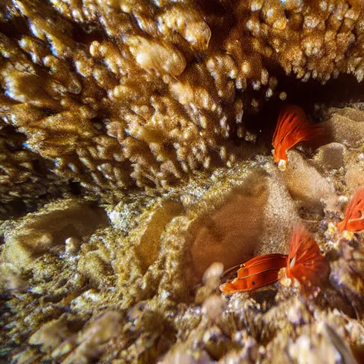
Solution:
[[[196,205],[198,218],[190,230],[195,277],[202,277],[217,258],[228,269],[253,255],[288,251],[298,216],[275,178],[257,168],[248,176],[231,178],[219,191],[211,189]]]

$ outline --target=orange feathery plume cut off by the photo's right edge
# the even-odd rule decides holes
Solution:
[[[336,226],[339,232],[364,230],[364,187],[356,191],[346,207],[344,220]]]

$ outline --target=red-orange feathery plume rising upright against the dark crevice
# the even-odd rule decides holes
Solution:
[[[310,140],[321,132],[321,127],[311,124],[301,107],[287,105],[279,112],[272,145],[274,162],[284,171],[287,167],[287,151],[300,141]]]

